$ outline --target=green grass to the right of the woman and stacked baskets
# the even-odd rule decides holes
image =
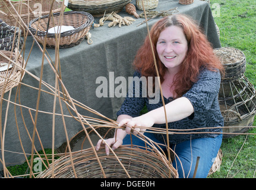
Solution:
[[[256,1],[211,0],[220,5],[220,17],[214,17],[223,47],[235,47],[246,56],[245,76],[256,86]],[[214,9],[213,9],[214,11]],[[254,124],[256,126],[256,117]],[[256,133],[256,129],[249,132]],[[244,145],[243,145],[244,144]],[[256,178],[256,137],[239,135],[223,140],[220,170],[209,178]],[[240,150],[240,151],[239,151]],[[236,157],[237,156],[237,157]]]

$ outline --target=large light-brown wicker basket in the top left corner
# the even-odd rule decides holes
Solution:
[[[0,0],[1,19],[8,25],[20,27],[24,31],[25,29],[21,24],[16,12],[12,9],[10,3],[16,9],[24,23],[29,24],[30,20],[33,20],[40,15],[50,13],[52,0],[22,0],[10,2],[8,0]],[[60,10],[61,3],[54,1],[52,12],[59,12]]]

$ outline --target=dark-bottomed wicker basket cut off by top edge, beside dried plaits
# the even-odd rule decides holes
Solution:
[[[89,12],[93,17],[121,11],[131,0],[69,0],[68,8],[72,11]]]

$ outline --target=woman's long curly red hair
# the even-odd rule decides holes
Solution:
[[[173,86],[175,86],[174,96],[178,98],[191,88],[192,83],[197,81],[200,68],[207,68],[211,71],[219,69],[222,74],[224,69],[219,59],[214,55],[213,47],[211,47],[210,42],[208,42],[202,30],[198,27],[198,24],[187,15],[170,15],[169,17],[164,17],[157,21],[150,30],[150,38],[153,43],[153,51],[156,57],[156,65],[161,83],[163,82],[166,67],[162,64],[157,55],[156,43],[160,33],[169,26],[181,27],[188,42],[187,56],[181,64],[180,71],[176,74],[176,80],[173,82]],[[134,66],[141,72],[141,75],[145,77],[157,76],[148,36],[135,56]]]

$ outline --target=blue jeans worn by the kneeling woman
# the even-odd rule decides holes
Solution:
[[[144,135],[156,143],[164,144],[163,142],[157,140],[152,133],[145,132]],[[127,135],[124,138],[123,144],[131,144],[130,135]],[[145,142],[140,140],[140,138],[136,137],[135,135],[132,135],[132,144],[140,145],[143,147],[145,146]],[[185,141],[183,143],[170,145],[170,148],[172,148],[172,150],[175,151],[179,157],[179,159],[175,158],[172,162],[173,167],[179,173],[179,178],[193,177],[195,164],[197,163],[197,157],[200,157],[200,160],[198,162],[195,178],[206,178],[217,156],[221,144],[222,134],[218,135],[216,138],[196,138],[193,140]],[[164,151],[166,150],[165,147],[161,148]]]

